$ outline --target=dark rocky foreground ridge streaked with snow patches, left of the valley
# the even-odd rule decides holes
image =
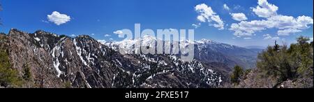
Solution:
[[[214,64],[174,55],[123,55],[89,36],[11,29],[1,37],[18,76],[30,68],[31,84],[22,87],[220,87],[228,76]]]

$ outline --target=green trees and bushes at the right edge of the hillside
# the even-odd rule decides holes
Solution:
[[[297,43],[269,46],[257,57],[257,68],[262,75],[274,76],[277,81],[294,80],[311,77],[313,80],[313,42],[300,36]]]

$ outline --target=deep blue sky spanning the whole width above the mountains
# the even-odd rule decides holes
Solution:
[[[292,43],[300,35],[313,38],[313,0],[260,2],[261,4],[257,0],[0,0],[3,6],[3,11],[0,12],[3,24],[0,32],[8,33],[10,28],[28,32],[43,29],[68,36],[88,34],[98,40],[108,41],[112,38],[119,41],[121,38],[114,31],[134,29],[134,24],[140,23],[141,29],[195,29],[196,40],[207,38],[239,46],[267,46],[273,44],[274,40]],[[224,8],[224,4],[229,9]],[[200,8],[197,10],[196,6]],[[257,6],[261,9],[258,10]],[[199,15],[208,14],[202,11],[209,8],[214,12],[205,15],[209,19],[198,19]],[[262,10],[269,13],[261,13]],[[47,15],[52,15],[53,11],[70,17],[70,20],[59,21],[59,25],[48,20]],[[243,13],[246,19],[238,16],[242,20],[234,20],[232,13]],[[219,20],[211,20],[211,14],[220,18],[224,29],[213,26]],[[268,15],[269,17],[263,17]],[[307,22],[299,21],[298,17]],[[285,20],[287,18],[293,20]],[[257,21],[256,24],[246,26],[253,20]],[[243,22],[242,26],[240,22]],[[262,22],[274,25],[259,25]],[[195,28],[192,24],[200,24],[200,27]],[[232,29],[232,24],[239,27]],[[290,24],[295,26],[291,27]],[[246,29],[255,30],[248,33]],[[235,34],[236,31],[241,33]],[[283,33],[278,33],[280,31]]]

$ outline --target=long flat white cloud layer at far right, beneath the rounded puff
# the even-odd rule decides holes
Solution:
[[[256,31],[275,28],[278,29],[278,36],[289,36],[308,29],[310,24],[313,24],[313,18],[304,15],[297,18],[287,15],[276,15],[266,20],[233,23],[230,26],[230,30],[234,31],[234,36],[252,36]]]

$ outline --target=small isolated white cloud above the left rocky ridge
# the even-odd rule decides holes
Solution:
[[[69,22],[71,17],[66,14],[61,14],[57,11],[54,11],[51,15],[47,15],[47,19],[54,24],[61,25]]]

